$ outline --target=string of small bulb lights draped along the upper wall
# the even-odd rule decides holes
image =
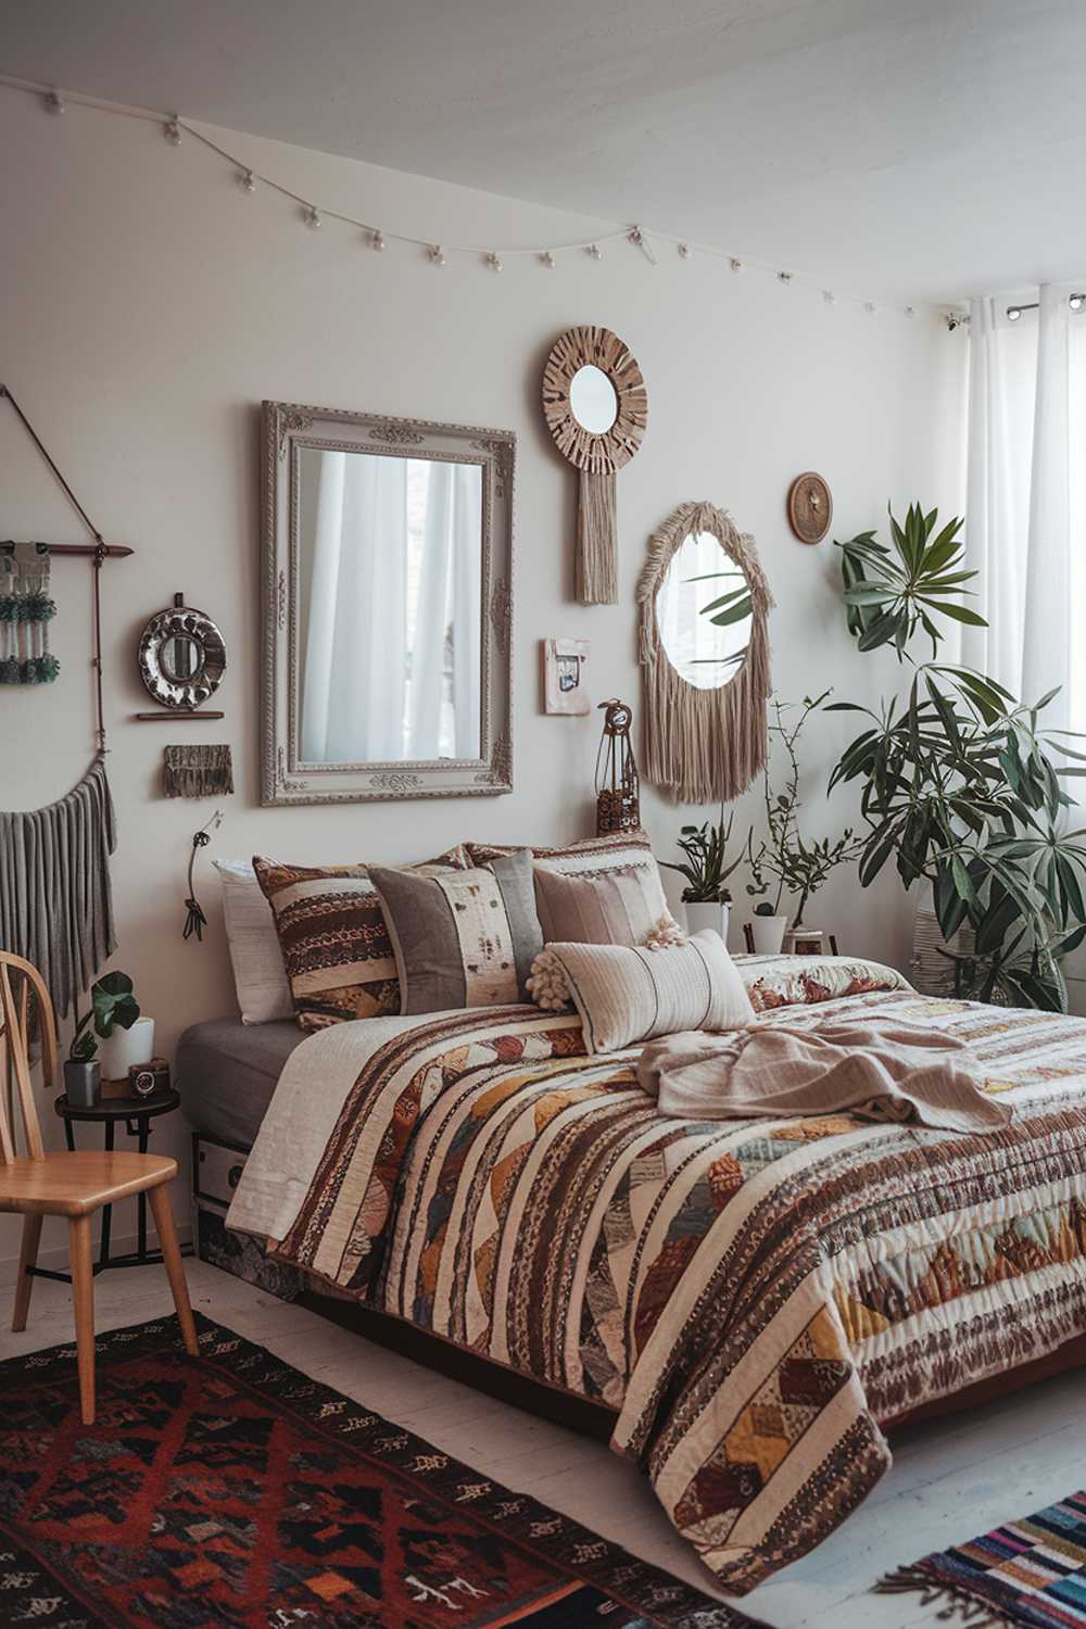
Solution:
[[[220,160],[234,168],[239,191],[252,194],[257,191],[257,182],[261,182],[261,186],[267,187],[269,192],[278,194],[282,199],[288,200],[296,209],[300,209],[301,218],[309,228],[316,230],[322,225],[321,210],[314,204],[300,197],[288,186],[283,186],[283,182],[275,181],[272,176],[251,169],[226,148],[220,147],[210,135],[205,135],[195,125],[182,122],[179,114],[174,112],[164,114],[161,111],[153,111],[147,108],[117,108],[111,103],[99,101],[93,96],[81,96],[77,93],[73,93],[65,103],[65,98],[55,86],[42,85],[41,81],[34,80],[20,80],[15,78],[13,75],[3,75],[3,73],[0,73],[0,88],[36,96],[42,109],[46,109],[54,116],[63,114],[67,111],[67,106],[73,103],[75,106],[86,108],[88,111],[93,112],[114,114],[114,117],[147,119],[151,124],[160,125],[163,137],[171,143],[171,147],[179,147],[182,138],[187,135],[194,143],[208,148]],[[334,222],[340,222],[347,226],[355,226],[358,231],[361,231],[363,239],[370,244],[370,248],[376,251],[383,251],[386,248],[384,233],[379,231],[378,228],[368,226],[365,222],[355,220],[353,217],[345,215],[340,210],[329,210],[327,215]],[[446,252],[443,246],[438,243],[427,243],[425,239],[420,238],[410,238],[407,233],[391,233],[389,238],[394,243],[402,243],[422,249],[422,252],[430,259],[433,266],[446,264]],[[653,239],[655,239],[656,244],[672,243],[676,248],[676,254],[682,261],[689,261],[694,254],[694,249],[697,248],[698,254],[726,261],[731,272],[742,272],[747,269],[747,266],[751,266],[754,270],[772,274],[782,283],[791,283],[795,280],[801,283],[806,282],[809,287],[809,280],[803,277],[803,274],[783,272],[778,270],[777,267],[767,266],[765,262],[759,261],[744,262],[738,256],[726,254],[721,249],[713,248],[712,244],[692,244],[689,239],[672,238],[669,233],[653,233],[650,238],[650,233],[642,225],[615,226],[614,230],[606,231],[599,239],[593,243],[562,243],[557,246],[557,249],[558,252],[581,251],[589,259],[601,261],[602,259],[601,244],[622,239],[625,239],[632,248],[640,249],[653,266],[659,264],[656,254],[653,252]],[[505,251],[498,251],[498,249],[485,249],[482,246],[454,244],[449,249],[449,254],[472,256],[477,259],[477,262],[482,261],[485,267],[495,272],[501,270],[503,267],[501,254],[534,256],[541,266],[547,267],[547,270],[554,270],[557,266],[555,251],[550,248],[536,249],[528,246],[524,248],[516,246],[516,248],[506,248]],[[855,293],[845,293],[840,298],[853,305],[861,305],[868,314],[874,314],[874,311],[878,310],[874,301],[860,300],[860,296]],[[832,293],[832,290],[822,290],[822,300],[825,301],[825,305],[834,305],[835,295]],[[1086,293],[1071,295],[1068,303],[1071,311],[1081,311],[1086,306]],[[915,306],[897,306],[896,310],[907,318],[917,314]],[[1018,321],[1021,314],[1023,314],[1021,306],[1011,308],[1008,311],[1011,321]],[[946,321],[949,329],[962,327],[967,326],[969,323],[969,318],[964,313],[952,313],[952,311],[944,311],[943,319]]]

